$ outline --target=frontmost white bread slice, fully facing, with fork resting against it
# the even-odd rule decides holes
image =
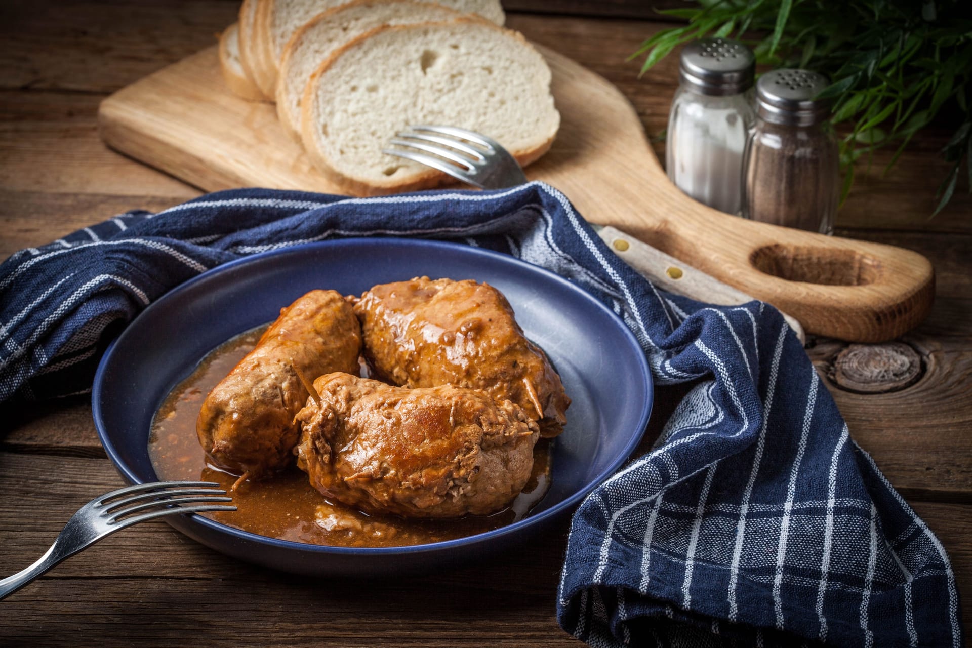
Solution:
[[[301,111],[306,151],[341,188],[359,195],[449,180],[381,152],[410,124],[483,133],[521,164],[545,153],[560,126],[543,57],[518,32],[474,18],[359,36],[311,76]]]

